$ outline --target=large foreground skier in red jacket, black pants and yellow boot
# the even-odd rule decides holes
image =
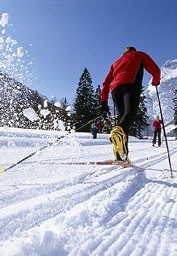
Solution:
[[[152,84],[160,84],[160,69],[148,54],[136,51],[135,47],[126,47],[123,56],[116,60],[105,77],[102,86],[101,113],[108,113],[109,91],[118,111],[119,122],[111,131],[110,140],[113,145],[116,161],[128,159],[128,131],[134,123],[142,88],[143,68],[152,76]]]

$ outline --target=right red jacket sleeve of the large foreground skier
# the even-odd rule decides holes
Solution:
[[[157,66],[155,61],[153,61],[148,54],[143,52],[142,62],[146,71],[153,76],[152,84],[156,86],[160,84],[160,68]]]

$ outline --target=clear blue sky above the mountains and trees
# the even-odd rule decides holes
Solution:
[[[176,0],[1,0],[0,10],[38,67],[33,88],[47,97],[72,102],[84,67],[96,88],[127,45],[160,66],[177,58]]]

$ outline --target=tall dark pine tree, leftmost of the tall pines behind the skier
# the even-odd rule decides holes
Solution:
[[[93,92],[91,76],[88,69],[84,68],[84,71],[82,72],[82,75],[79,79],[75,102],[73,104],[73,121],[75,123],[76,129],[95,118]],[[90,131],[90,124],[88,124],[86,127],[83,127],[81,131]]]

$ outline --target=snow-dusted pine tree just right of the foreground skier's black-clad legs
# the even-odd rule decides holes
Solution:
[[[135,122],[130,128],[130,135],[135,136],[137,138],[142,138],[142,131],[146,130],[149,126],[148,118],[149,117],[146,109],[146,96],[144,95],[144,90],[142,88],[139,108],[137,110]]]

